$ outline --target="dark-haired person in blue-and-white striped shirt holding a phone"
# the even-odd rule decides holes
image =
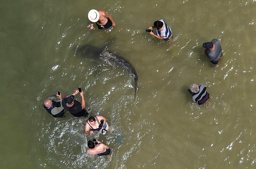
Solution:
[[[163,19],[157,20],[154,22],[154,26],[150,26],[148,29],[156,28],[156,34],[153,32],[149,32],[152,36],[157,39],[163,39],[165,41],[169,41],[172,38],[172,30],[171,28],[164,22]]]

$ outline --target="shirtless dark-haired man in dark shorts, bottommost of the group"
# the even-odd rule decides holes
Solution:
[[[106,144],[98,140],[89,140],[87,145],[90,148],[89,150],[87,150],[87,153],[90,156],[94,156],[97,154],[98,156],[107,156],[108,158],[110,158],[110,149]]]

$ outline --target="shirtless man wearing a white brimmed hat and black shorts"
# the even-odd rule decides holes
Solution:
[[[109,28],[112,25],[113,26],[116,25],[113,18],[107,12],[102,10],[97,11],[95,9],[92,9],[91,11],[88,12],[88,18],[91,21],[91,27],[90,27],[91,30],[95,29],[93,27],[93,24],[95,22],[99,29]]]

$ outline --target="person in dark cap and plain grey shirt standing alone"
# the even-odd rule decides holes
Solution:
[[[213,39],[211,42],[203,43],[204,54],[213,64],[218,64],[219,59],[222,56],[220,42],[217,39]]]

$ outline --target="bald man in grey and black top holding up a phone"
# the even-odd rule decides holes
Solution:
[[[60,102],[53,101],[55,97],[59,97]],[[47,110],[49,114],[52,114],[53,117],[64,117],[64,108],[61,105],[62,96],[54,94],[50,97],[48,97],[46,100],[44,100],[44,108]]]

